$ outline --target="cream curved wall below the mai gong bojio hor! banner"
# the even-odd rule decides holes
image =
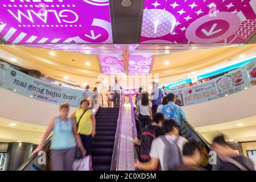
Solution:
[[[69,114],[76,110],[71,107]],[[0,117],[15,121],[47,126],[59,113],[59,105],[22,96],[0,88]]]

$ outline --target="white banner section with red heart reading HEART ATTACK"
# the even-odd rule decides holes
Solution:
[[[197,104],[218,98],[214,81],[204,82],[182,89],[184,105]]]

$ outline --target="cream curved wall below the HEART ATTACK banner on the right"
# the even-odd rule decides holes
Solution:
[[[194,127],[215,125],[256,115],[256,86],[216,100],[184,106]]]

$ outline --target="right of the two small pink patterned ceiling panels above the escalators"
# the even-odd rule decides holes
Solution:
[[[152,55],[129,55],[129,75],[147,75],[150,73]]]

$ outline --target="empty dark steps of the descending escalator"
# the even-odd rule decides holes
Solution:
[[[94,171],[110,171],[119,108],[101,107],[96,114],[96,135],[92,140]]]

